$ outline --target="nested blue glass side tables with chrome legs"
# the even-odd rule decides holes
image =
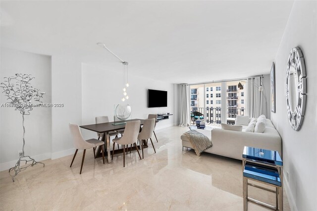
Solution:
[[[283,211],[283,161],[277,151],[244,147],[243,155],[243,208],[248,210],[248,201],[271,210]],[[270,185],[275,190],[248,181]],[[276,205],[268,205],[248,197],[248,185],[275,193]]]

